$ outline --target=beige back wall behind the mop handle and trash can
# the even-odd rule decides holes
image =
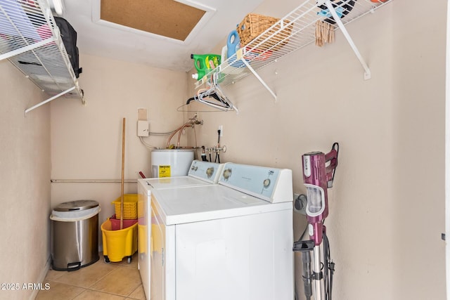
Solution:
[[[138,108],[148,110],[150,131],[176,129],[184,123],[184,113],[176,108],[186,98],[186,74],[84,55],[80,65],[79,84],[86,105],[65,100],[51,103],[51,178],[119,183],[53,182],[52,207],[70,200],[96,200],[103,223],[114,214],[111,202],[120,197],[122,118],[126,118],[124,178],[136,181],[139,171],[150,176],[150,150],[136,136]],[[145,141],[165,147],[167,138],[151,136]],[[136,183],[125,183],[124,193],[136,192]]]

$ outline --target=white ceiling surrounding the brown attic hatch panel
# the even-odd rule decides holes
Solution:
[[[203,24],[200,21],[201,28],[195,28],[186,41],[98,22],[100,1],[64,1],[63,18],[77,31],[79,52],[187,72],[193,67],[191,53],[210,53],[214,46],[225,43],[229,32],[263,0],[176,0],[210,11]]]

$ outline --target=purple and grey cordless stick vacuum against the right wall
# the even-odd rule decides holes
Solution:
[[[328,216],[328,188],[333,187],[335,169],[338,166],[339,144],[334,143],[330,152],[309,152],[302,155],[303,181],[307,188],[306,214],[308,219],[309,241],[299,241],[294,244],[294,251],[302,252],[303,280],[305,283],[305,296],[311,297],[307,285],[314,283],[314,299],[330,300],[333,284],[334,263],[329,259],[329,245],[326,237],[326,228],[323,221]],[[323,241],[323,262],[321,244]],[[313,250],[312,274],[310,271],[309,252]],[[323,266],[323,268],[322,268]],[[324,272],[322,272],[324,270]],[[330,275],[328,275],[330,270]],[[311,275],[311,276],[309,276]],[[309,289],[311,287],[309,286]],[[325,298],[324,298],[325,297]]]

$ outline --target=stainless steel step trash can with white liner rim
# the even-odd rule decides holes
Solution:
[[[98,212],[93,200],[59,204],[51,212],[53,270],[79,270],[98,261]]]

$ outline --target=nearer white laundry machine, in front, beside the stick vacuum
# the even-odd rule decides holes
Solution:
[[[292,171],[227,163],[219,184],[139,183],[151,203],[148,299],[293,299]]]

